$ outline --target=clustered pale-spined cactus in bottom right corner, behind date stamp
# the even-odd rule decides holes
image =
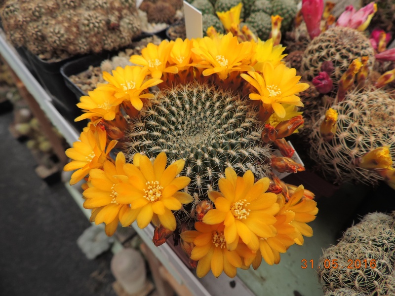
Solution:
[[[367,214],[324,251],[318,277],[325,296],[395,295],[394,222],[393,215]]]

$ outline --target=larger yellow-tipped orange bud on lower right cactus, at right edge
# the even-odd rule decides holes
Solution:
[[[357,165],[364,169],[390,169],[392,164],[388,146],[373,149],[357,159]]]

